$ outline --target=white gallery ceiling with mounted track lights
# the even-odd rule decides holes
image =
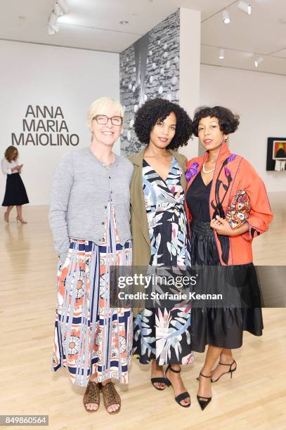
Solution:
[[[181,6],[202,13],[203,64],[286,75],[286,20],[280,22],[286,19],[286,0],[249,0],[252,15],[239,11],[234,0],[67,0],[70,12],[60,18],[60,32],[48,36],[54,3],[3,1],[0,39],[121,52]],[[229,25],[221,19],[227,6]],[[219,60],[219,48],[225,49],[224,60]],[[256,69],[254,59],[260,56],[264,61]]]

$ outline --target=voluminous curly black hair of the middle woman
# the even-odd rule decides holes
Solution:
[[[176,133],[167,149],[185,146],[193,134],[193,122],[183,107],[164,98],[148,100],[138,109],[134,122],[135,133],[141,143],[150,142],[150,132],[157,121],[164,121],[171,112],[176,115]]]

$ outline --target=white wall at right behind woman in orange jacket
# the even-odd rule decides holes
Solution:
[[[266,171],[268,137],[286,137],[286,77],[277,74],[201,66],[201,105],[223,105],[240,115],[230,150],[255,167],[268,192],[286,189],[286,172]]]

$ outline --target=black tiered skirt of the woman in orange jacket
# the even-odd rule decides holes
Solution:
[[[223,301],[193,301],[192,350],[204,352],[206,345],[240,348],[246,330],[261,336],[263,320],[261,294],[253,263],[221,266],[216,241],[209,222],[191,224],[192,270],[202,275],[198,293],[221,294]],[[207,266],[207,267],[206,267]]]

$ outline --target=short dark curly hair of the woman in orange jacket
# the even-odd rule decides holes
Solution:
[[[223,134],[234,133],[238,129],[240,124],[239,115],[233,114],[229,109],[223,106],[201,106],[195,110],[195,117],[193,120],[193,133],[197,136],[197,128],[199,126],[200,119],[206,117],[215,117],[219,119],[219,128]]]

